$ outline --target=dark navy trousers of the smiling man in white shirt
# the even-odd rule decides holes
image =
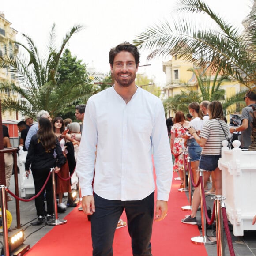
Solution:
[[[151,254],[154,192],[143,200],[107,200],[94,194],[96,211],[91,215],[93,256],[112,256],[117,222],[125,210],[134,256]]]

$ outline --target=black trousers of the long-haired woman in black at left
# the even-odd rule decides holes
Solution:
[[[32,170],[34,185],[35,185],[35,194],[41,190],[45,181],[49,175],[50,169],[40,169],[40,170]],[[45,192],[45,196],[44,196]],[[47,211],[45,211],[45,198],[47,202]],[[35,206],[37,209],[38,216],[44,216],[46,214],[53,215],[54,207],[53,207],[53,185],[52,185],[52,175],[47,182],[45,189],[41,192],[41,194],[35,198]]]

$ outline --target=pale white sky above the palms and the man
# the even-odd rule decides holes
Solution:
[[[251,0],[205,0],[213,11],[230,23],[241,26],[248,15]],[[17,41],[22,41],[22,33],[29,35],[41,52],[46,50],[49,31],[56,24],[56,35],[63,38],[76,24],[84,29],[69,41],[72,55],[83,60],[96,72],[110,71],[109,50],[121,42],[131,42],[148,26],[163,19],[170,19],[176,8],[176,0],[2,0],[0,11],[11,27],[19,33]],[[242,26],[241,26],[242,27]],[[154,75],[158,86],[165,85],[162,59],[147,61],[147,53],[140,52],[139,73]]]

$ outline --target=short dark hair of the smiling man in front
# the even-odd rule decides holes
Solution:
[[[134,56],[135,59],[135,63],[136,63],[136,67],[138,67],[139,65],[139,52],[138,49],[135,45],[132,45],[128,42],[124,42],[120,45],[117,45],[116,47],[112,48],[109,52],[109,63],[110,65],[113,67],[113,63],[114,63],[114,58],[115,56],[122,52],[122,51],[126,51],[129,53],[132,53],[132,55]]]

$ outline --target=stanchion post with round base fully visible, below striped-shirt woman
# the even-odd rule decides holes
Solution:
[[[203,177],[203,169],[199,169],[199,176]],[[205,218],[205,212],[203,207],[203,193],[204,190],[202,190],[202,186],[200,185],[200,200],[201,200],[201,222],[202,222],[202,236],[198,237],[192,237],[191,241],[194,244],[200,244],[200,245],[213,245],[216,244],[216,237],[210,237],[207,236],[207,230],[206,230],[206,218]]]

